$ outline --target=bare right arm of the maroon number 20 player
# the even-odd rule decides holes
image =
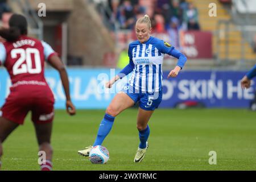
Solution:
[[[72,104],[70,93],[69,93],[69,81],[68,81],[68,73],[65,69],[65,65],[61,62],[60,58],[57,55],[53,55],[49,58],[48,63],[60,73],[61,82],[63,84],[63,88],[66,96],[66,109],[68,114],[75,115],[76,108]]]

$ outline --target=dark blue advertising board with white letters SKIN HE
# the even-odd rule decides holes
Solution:
[[[255,79],[251,88],[243,90],[240,81],[246,72],[184,71],[166,79],[164,72],[161,107],[173,107],[183,101],[199,101],[207,107],[249,107],[254,99]]]

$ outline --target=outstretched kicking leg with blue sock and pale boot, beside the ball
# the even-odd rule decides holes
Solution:
[[[102,144],[102,142],[112,129],[115,117],[123,110],[133,106],[134,104],[135,101],[131,99],[131,97],[129,97],[126,93],[119,92],[117,95],[115,95],[112,102],[106,109],[106,113],[100,123],[97,137],[93,146]],[[78,153],[82,156],[88,156],[91,149],[92,146],[88,146],[84,150],[78,151]]]

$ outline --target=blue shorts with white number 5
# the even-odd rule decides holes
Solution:
[[[121,92],[126,93],[136,104],[139,102],[139,107],[144,110],[155,110],[158,108],[162,101],[162,90],[154,93],[134,93],[134,89],[131,85],[127,84],[123,87]]]

